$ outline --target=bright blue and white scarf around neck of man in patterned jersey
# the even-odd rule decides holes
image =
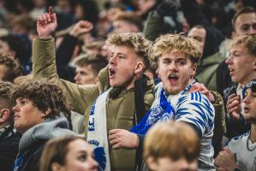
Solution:
[[[181,93],[185,94],[192,87],[194,81],[189,84]],[[152,104],[152,109],[150,109],[146,115],[142,118],[142,120],[134,127],[130,129],[132,133],[137,134],[146,134],[147,130],[152,127],[157,122],[161,121],[170,121],[174,119],[176,115],[176,111],[168,102],[163,83],[159,83],[157,87],[157,91],[160,89],[160,93],[155,93],[155,98],[159,99],[159,103]]]

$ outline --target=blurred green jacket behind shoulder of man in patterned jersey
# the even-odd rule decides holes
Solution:
[[[223,60],[224,57],[218,52],[201,59],[198,63],[195,79],[203,83],[209,90],[217,91],[216,69]]]

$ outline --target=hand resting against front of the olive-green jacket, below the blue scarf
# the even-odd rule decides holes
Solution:
[[[109,133],[110,144],[113,149],[134,149],[139,145],[139,137],[135,133],[124,129],[112,129]]]

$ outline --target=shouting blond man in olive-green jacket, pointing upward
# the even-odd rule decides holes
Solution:
[[[56,27],[57,17],[51,10],[39,15],[39,38],[33,41],[33,76],[56,80],[74,111],[85,114],[86,138],[92,144],[101,170],[135,170],[135,150],[113,149],[109,146],[108,133],[114,128],[129,130],[150,109],[153,82],[143,77],[143,73],[149,65],[151,42],[139,33],[111,35],[107,40],[109,68],[98,75],[98,85],[75,85],[57,76],[55,44],[51,37]]]

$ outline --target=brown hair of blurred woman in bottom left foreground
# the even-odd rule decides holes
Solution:
[[[61,137],[51,139],[45,144],[42,156],[40,158],[40,171],[51,171],[51,164],[57,162],[64,165],[68,153],[68,144],[74,140],[85,139],[76,136]]]

